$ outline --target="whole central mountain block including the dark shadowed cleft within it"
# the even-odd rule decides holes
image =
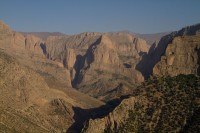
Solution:
[[[63,63],[69,70],[73,87],[104,97],[121,83],[131,89],[143,81],[135,65],[148,52],[148,46],[128,33],[82,33],[51,36],[46,50],[48,59]]]

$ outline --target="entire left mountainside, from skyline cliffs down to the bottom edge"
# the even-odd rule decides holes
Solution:
[[[43,48],[40,38],[0,23],[0,132],[71,131],[75,108],[104,104],[72,89],[63,64],[47,60]]]

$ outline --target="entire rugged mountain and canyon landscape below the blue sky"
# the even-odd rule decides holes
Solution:
[[[196,132],[200,24],[16,32],[0,21],[0,132]]]

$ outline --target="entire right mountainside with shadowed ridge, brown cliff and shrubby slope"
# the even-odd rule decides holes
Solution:
[[[152,45],[136,68],[153,77],[106,116],[88,120],[82,131],[198,132],[199,30],[199,24],[188,26]]]

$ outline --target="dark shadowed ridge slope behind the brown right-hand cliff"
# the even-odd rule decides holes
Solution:
[[[172,32],[162,37],[158,44],[153,44],[149,49],[148,54],[142,57],[142,60],[137,64],[136,69],[147,79],[153,73],[154,66],[161,60],[161,56],[164,55],[168,44],[170,44],[175,37],[192,36],[199,34],[199,31],[200,24],[196,24],[187,26],[179,31]]]

